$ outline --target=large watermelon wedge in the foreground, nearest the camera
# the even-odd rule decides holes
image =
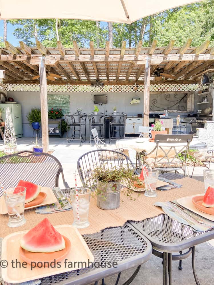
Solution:
[[[54,252],[65,248],[62,235],[45,218],[20,240],[21,247],[31,252]]]

